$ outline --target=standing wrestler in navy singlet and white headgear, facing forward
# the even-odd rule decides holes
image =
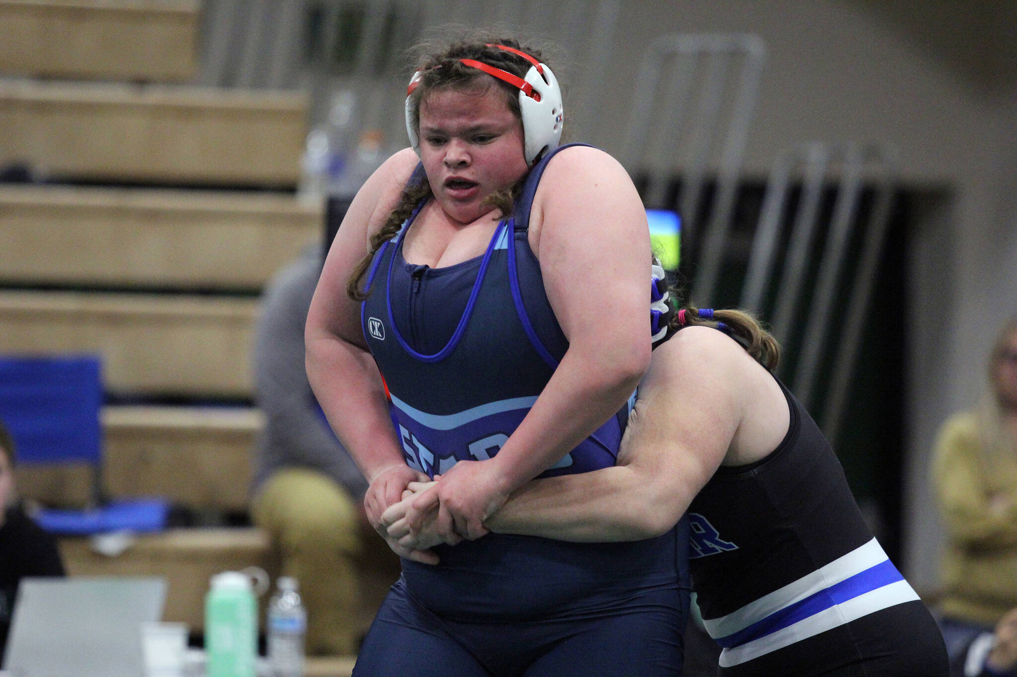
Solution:
[[[397,153],[358,193],[308,314],[308,376],[371,483],[372,524],[411,481],[441,475],[415,500],[467,539],[390,539],[403,577],[356,674],[678,674],[684,524],[626,543],[483,526],[538,475],[614,465],[650,354],[649,231],[631,180],[600,150],[558,147],[553,73],[490,42],[414,75],[419,165]]]

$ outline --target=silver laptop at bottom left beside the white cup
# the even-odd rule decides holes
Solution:
[[[166,580],[22,579],[3,668],[11,677],[140,677],[141,622],[158,621]]]

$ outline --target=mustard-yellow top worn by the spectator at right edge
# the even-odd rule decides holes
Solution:
[[[933,484],[949,535],[942,611],[995,625],[1017,607],[1017,450],[986,467],[981,444],[974,412],[950,418],[937,443]]]

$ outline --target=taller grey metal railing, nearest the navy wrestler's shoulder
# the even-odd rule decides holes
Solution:
[[[765,61],[757,36],[662,36],[647,49],[637,77],[622,161],[631,171],[650,165],[645,202],[651,206],[669,206],[663,204],[667,179],[680,174],[682,241],[687,249],[701,234],[704,240],[693,280],[702,306],[716,292]],[[712,171],[717,187],[709,222],[701,225]]]

